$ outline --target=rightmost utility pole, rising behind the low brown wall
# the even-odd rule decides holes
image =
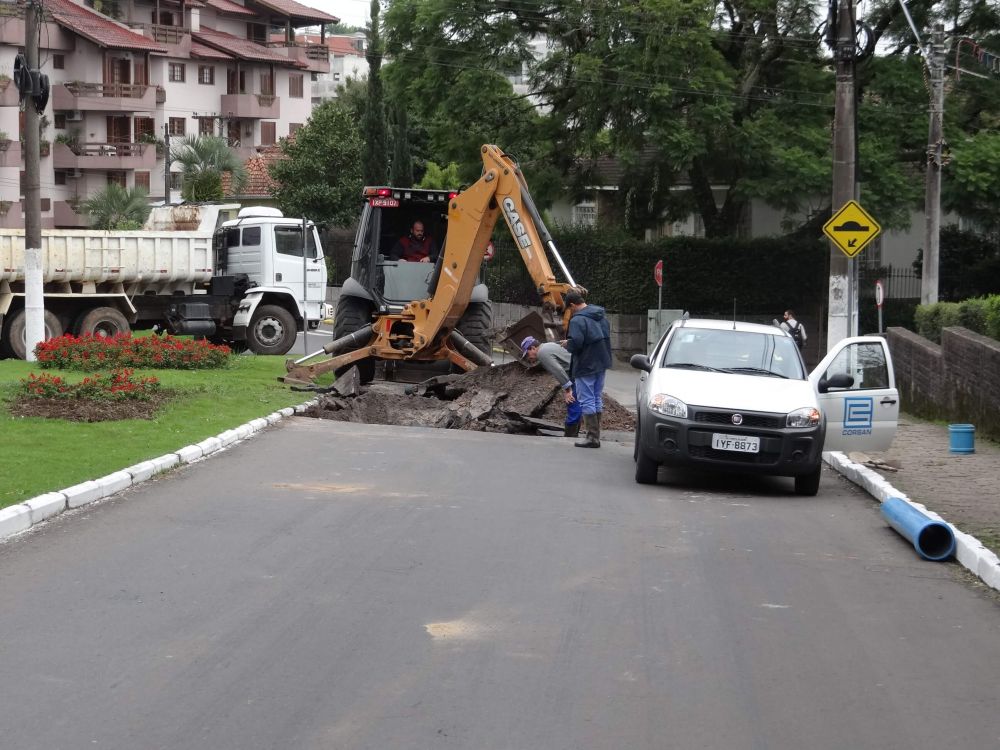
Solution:
[[[927,56],[927,70],[931,84],[930,126],[927,134],[927,187],[924,194],[924,213],[927,231],[924,239],[923,274],[920,279],[920,303],[937,302],[938,266],[941,245],[941,168],[944,157],[944,26],[937,24],[931,34],[931,49]]]

